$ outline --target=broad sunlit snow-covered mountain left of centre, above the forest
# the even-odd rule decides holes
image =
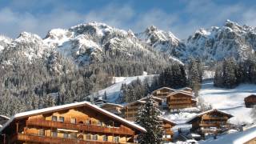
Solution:
[[[107,57],[134,58],[142,55],[157,58],[154,51],[139,41],[131,30],[119,30],[98,22],[72,26],[68,30],[50,30],[44,42],[74,59],[78,65],[104,62]]]

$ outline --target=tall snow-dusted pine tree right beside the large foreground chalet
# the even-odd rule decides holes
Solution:
[[[145,105],[138,111],[136,123],[146,129],[146,133],[138,134],[141,144],[162,143],[161,111],[154,106],[152,96],[147,96]]]

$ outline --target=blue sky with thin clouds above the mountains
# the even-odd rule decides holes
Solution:
[[[249,0],[1,0],[0,34],[16,38],[29,31],[43,38],[53,28],[95,21],[134,32],[154,25],[187,38],[226,19],[256,26],[255,8]]]

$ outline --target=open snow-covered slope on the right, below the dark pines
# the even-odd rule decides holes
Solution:
[[[200,96],[213,108],[223,110],[234,115],[230,122],[234,124],[251,123],[250,108],[244,105],[244,98],[250,94],[256,94],[256,85],[241,84],[234,89],[214,87],[213,81],[202,83]]]

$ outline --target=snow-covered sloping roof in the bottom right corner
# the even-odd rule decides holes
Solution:
[[[246,143],[252,139],[256,138],[256,126],[250,128],[248,130],[226,134],[218,137],[217,139],[207,139],[206,141],[202,141],[200,143],[209,143],[209,144],[242,144]]]

